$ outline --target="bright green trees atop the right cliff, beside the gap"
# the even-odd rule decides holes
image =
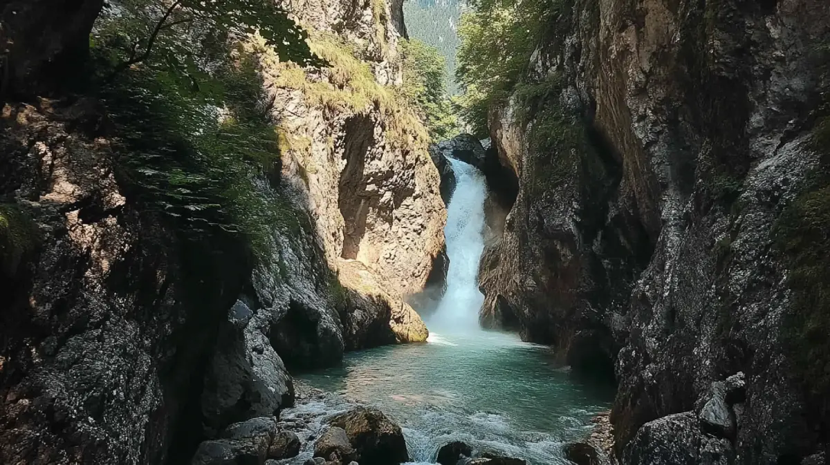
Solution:
[[[488,109],[503,104],[527,74],[543,31],[561,20],[565,0],[481,0],[461,16],[456,79],[471,132],[486,136]]]

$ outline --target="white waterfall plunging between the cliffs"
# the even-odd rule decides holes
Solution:
[[[456,175],[456,189],[447,206],[447,292],[427,322],[431,331],[479,331],[478,312],[484,295],[478,290],[478,264],[484,250],[484,175],[468,163],[447,158]]]

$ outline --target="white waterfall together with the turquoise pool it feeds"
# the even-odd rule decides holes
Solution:
[[[427,343],[353,352],[340,367],[298,379],[382,409],[401,424],[417,463],[432,463],[442,444],[456,440],[474,453],[532,465],[568,463],[561,443],[585,434],[613,393],[574,380],[544,346],[478,327],[486,185],[476,168],[451,162],[457,187],[447,208],[447,292],[427,319]]]

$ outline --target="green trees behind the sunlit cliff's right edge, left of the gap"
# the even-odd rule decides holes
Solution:
[[[456,136],[459,131],[444,86],[444,59],[422,41],[400,41],[403,56],[403,96],[420,110],[433,141]]]

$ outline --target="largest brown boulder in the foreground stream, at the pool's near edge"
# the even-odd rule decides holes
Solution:
[[[378,409],[361,406],[334,416],[330,424],[345,430],[360,465],[397,465],[409,460],[401,427]]]

